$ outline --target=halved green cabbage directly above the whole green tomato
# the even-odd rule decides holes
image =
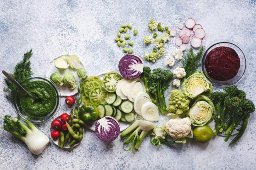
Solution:
[[[203,126],[215,116],[215,107],[207,96],[200,95],[189,110],[191,124]]]

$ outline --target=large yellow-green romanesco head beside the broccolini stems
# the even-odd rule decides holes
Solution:
[[[182,90],[171,90],[167,111],[178,115],[189,110],[189,98]]]

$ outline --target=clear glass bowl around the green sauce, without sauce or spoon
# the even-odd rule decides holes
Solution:
[[[22,119],[28,120],[32,123],[43,123],[46,122],[48,120],[50,120],[50,118],[52,118],[58,111],[61,105],[61,98],[60,98],[60,90],[58,89],[58,87],[48,78],[44,77],[44,76],[31,76],[28,77],[26,80],[24,80],[21,85],[23,83],[27,83],[30,81],[36,81],[36,80],[40,80],[40,81],[44,81],[46,83],[48,83],[49,85],[51,85],[53,87],[53,89],[55,90],[56,93],[56,105],[54,107],[54,109],[47,114],[44,117],[32,117],[30,115],[28,115],[26,112],[24,112],[22,110],[22,107],[20,106],[20,99],[19,99],[19,93],[16,93],[15,99],[14,99],[14,103],[13,103],[13,107],[15,112],[17,113],[17,115],[19,117],[22,117]]]

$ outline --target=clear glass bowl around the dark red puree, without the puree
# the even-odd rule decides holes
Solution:
[[[219,80],[215,80],[213,78],[211,78],[206,71],[205,68],[205,60],[206,60],[206,56],[207,54],[216,47],[229,47],[229,48],[233,48],[236,53],[238,53],[238,56],[240,58],[240,68],[238,70],[238,73],[229,80],[226,81],[219,81]],[[201,63],[200,63],[200,70],[201,72],[204,74],[204,76],[206,77],[207,80],[209,80],[211,82],[211,84],[214,87],[217,88],[226,88],[232,85],[237,84],[245,75],[245,71],[246,71],[246,58],[245,58],[245,54],[243,53],[243,51],[241,50],[241,48],[239,48],[237,45],[235,45],[234,43],[230,43],[230,42],[217,42],[217,43],[212,43],[211,45],[209,45],[208,47],[206,47],[206,50],[204,51],[202,58],[201,58]]]

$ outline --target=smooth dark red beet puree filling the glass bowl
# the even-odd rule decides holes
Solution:
[[[219,81],[232,79],[240,68],[240,58],[229,47],[213,48],[206,56],[205,67],[208,75]]]

